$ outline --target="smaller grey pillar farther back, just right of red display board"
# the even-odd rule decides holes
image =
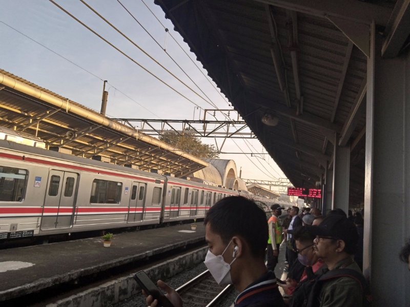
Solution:
[[[333,203],[332,209],[342,209],[346,214],[349,208],[350,143],[334,146],[333,155]]]

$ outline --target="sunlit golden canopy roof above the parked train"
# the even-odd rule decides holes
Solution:
[[[0,70],[0,126],[36,136],[46,148],[117,165],[186,176],[208,163],[81,104]]]

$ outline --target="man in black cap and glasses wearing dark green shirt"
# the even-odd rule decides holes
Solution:
[[[319,226],[306,226],[316,235],[315,253],[322,258],[329,270],[351,269],[361,275],[361,270],[353,259],[358,240],[356,226],[346,216],[333,214],[326,216]],[[364,277],[363,277],[364,278]],[[351,276],[340,276],[324,280],[317,297],[311,297],[308,305],[314,306],[363,306],[365,295],[361,283]]]

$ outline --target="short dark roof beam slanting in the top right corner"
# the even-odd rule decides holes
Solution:
[[[393,58],[398,55],[410,34],[410,0],[396,2],[384,33],[381,55],[384,58]]]

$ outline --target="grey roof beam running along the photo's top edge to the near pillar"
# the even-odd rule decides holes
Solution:
[[[255,0],[281,7],[284,9],[297,11],[309,15],[332,16],[348,21],[355,21],[365,25],[370,25],[375,20],[376,25],[386,26],[392,9],[360,2],[356,0]]]

